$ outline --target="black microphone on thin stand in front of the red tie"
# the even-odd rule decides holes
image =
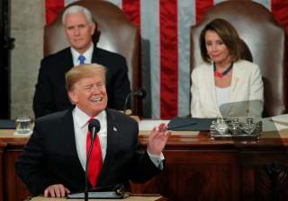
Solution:
[[[87,160],[85,164],[85,167],[86,167],[85,168],[85,192],[84,192],[85,201],[88,200],[88,163],[89,163],[90,155],[93,149],[95,134],[98,133],[100,130],[100,122],[97,119],[94,119],[94,118],[91,119],[88,125],[88,130],[90,131],[91,144],[89,147],[89,152],[87,154]]]

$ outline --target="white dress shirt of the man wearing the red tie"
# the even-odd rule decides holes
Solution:
[[[76,138],[76,151],[78,154],[79,161],[85,170],[86,164],[86,137],[88,131],[88,121],[90,117],[85,114],[81,109],[75,107],[72,112],[73,122],[74,122],[74,129],[75,129],[75,138]],[[98,132],[99,141],[101,144],[101,152],[102,152],[102,159],[105,159],[106,156],[106,149],[107,149],[107,115],[106,111],[103,110],[100,114],[98,114],[95,119],[99,120],[101,128]],[[150,160],[159,168],[163,170],[163,160],[164,155],[163,153],[160,156],[153,155],[148,153]]]

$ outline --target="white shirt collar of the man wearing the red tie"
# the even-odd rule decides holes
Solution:
[[[84,111],[82,111],[81,109],[77,107],[75,107],[73,112],[74,112],[74,117],[75,117],[77,126],[80,128],[85,127],[88,124],[90,117]],[[103,125],[103,122],[106,119],[106,110],[103,110],[94,118],[99,120],[100,125]]]

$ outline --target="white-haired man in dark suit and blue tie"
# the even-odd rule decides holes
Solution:
[[[33,99],[35,117],[71,107],[65,88],[65,74],[71,67],[83,63],[97,63],[107,67],[108,108],[122,110],[125,98],[130,93],[125,58],[96,48],[93,43],[96,24],[85,7],[68,7],[62,15],[62,22],[70,47],[41,60]]]

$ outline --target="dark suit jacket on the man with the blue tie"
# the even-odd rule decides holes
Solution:
[[[108,108],[122,110],[124,100],[130,92],[125,58],[94,46],[92,63],[107,67]],[[71,106],[67,96],[65,74],[73,66],[70,48],[65,48],[41,60],[33,99],[33,110],[36,118]]]

